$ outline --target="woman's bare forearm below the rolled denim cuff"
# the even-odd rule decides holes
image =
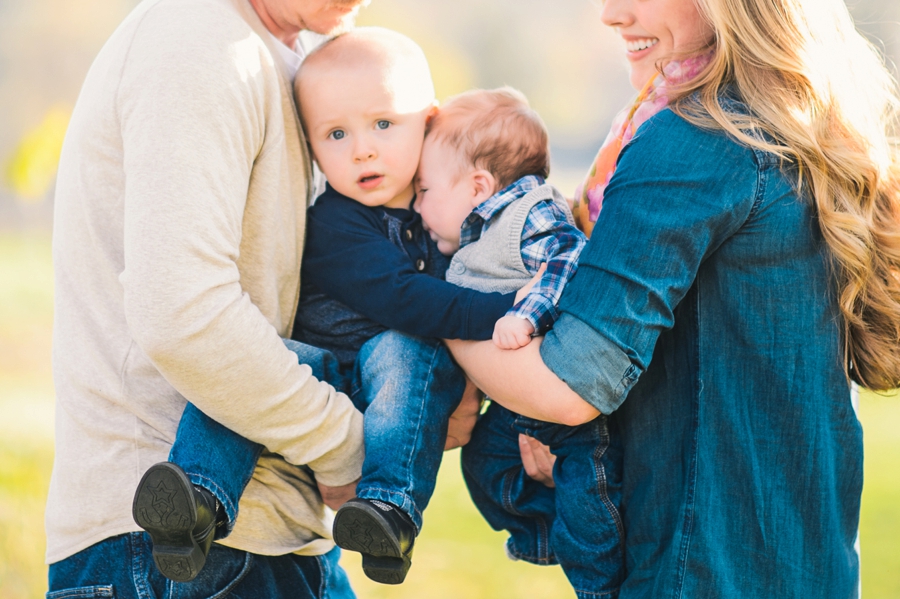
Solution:
[[[504,350],[490,341],[447,340],[453,357],[492,401],[513,412],[570,426],[600,415],[544,364],[541,338]]]

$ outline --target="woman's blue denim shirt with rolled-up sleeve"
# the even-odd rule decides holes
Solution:
[[[541,353],[622,436],[620,599],[857,595],[862,430],[795,182],[669,110],[619,158]]]

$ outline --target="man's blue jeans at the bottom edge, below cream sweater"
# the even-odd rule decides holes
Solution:
[[[50,565],[47,599],[355,599],[338,565],[325,555],[256,555],[213,545],[203,571],[172,582],[153,565],[147,533],[128,533]]]

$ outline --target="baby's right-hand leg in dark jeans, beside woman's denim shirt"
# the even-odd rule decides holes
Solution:
[[[569,427],[519,416],[517,428],[556,456],[550,546],[579,599],[614,598],[625,576],[622,446],[614,418]]]

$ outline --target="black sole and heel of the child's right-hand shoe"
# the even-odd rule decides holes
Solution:
[[[334,519],[334,542],[338,547],[362,554],[363,572],[382,584],[400,584],[412,565],[390,532],[391,527],[370,505],[347,504]]]

